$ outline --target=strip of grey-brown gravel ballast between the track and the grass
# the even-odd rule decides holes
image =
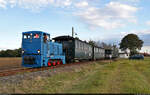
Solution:
[[[26,72],[26,73],[20,73],[20,74],[12,75],[12,76],[0,77],[0,84],[2,85],[3,84],[4,85],[5,84],[20,84],[23,80],[33,80],[39,76],[50,77],[60,72],[71,72],[71,71],[74,71],[75,68],[81,68],[84,65],[88,65],[88,64],[70,65],[70,66],[58,67],[58,68],[44,70],[44,71]]]

